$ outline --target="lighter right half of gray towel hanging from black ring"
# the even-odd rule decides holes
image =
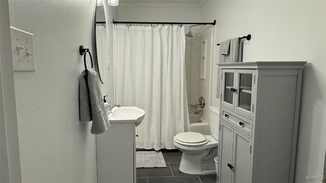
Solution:
[[[105,132],[108,127],[110,127],[110,123],[104,108],[98,74],[94,69],[88,69],[87,71],[93,118],[91,133],[101,134]]]

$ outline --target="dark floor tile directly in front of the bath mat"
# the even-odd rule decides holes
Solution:
[[[172,176],[169,165],[166,168],[136,168],[137,177]]]

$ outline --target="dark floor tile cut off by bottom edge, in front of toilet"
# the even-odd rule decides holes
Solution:
[[[149,183],[201,183],[198,176],[148,177]]]

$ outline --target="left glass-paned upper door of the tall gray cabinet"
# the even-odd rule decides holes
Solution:
[[[222,85],[222,99],[223,105],[233,108],[234,104],[234,92],[232,92],[234,82],[234,70],[223,70],[223,85]]]

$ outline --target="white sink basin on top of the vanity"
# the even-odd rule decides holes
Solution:
[[[145,116],[145,111],[139,107],[115,107],[108,115],[110,123],[136,123],[139,126]]]

